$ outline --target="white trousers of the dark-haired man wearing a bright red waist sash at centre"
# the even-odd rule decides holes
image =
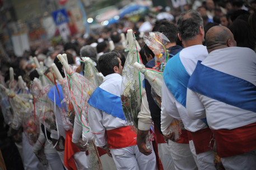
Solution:
[[[154,170],[158,169],[156,155],[153,152],[148,156],[139,152],[137,145],[121,149],[110,149],[117,169]]]

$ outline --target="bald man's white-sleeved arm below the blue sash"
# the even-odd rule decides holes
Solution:
[[[206,110],[199,100],[196,92],[187,89],[187,111],[190,119],[203,119],[206,117]]]

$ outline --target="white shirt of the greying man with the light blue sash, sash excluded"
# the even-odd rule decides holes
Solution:
[[[208,55],[206,46],[193,45],[180,51],[180,60],[191,75],[196,68],[198,60],[204,60]],[[171,61],[171,60],[170,60]],[[198,131],[207,128],[202,120],[192,120],[188,116],[187,109],[179,103],[173,94],[166,87],[165,82],[162,83],[162,105],[161,105],[161,131],[167,134],[167,129],[173,119],[182,120],[184,128],[189,131]]]

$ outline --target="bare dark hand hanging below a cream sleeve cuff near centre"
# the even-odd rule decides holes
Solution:
[[[146,137],[148,135],[148,130],[139,130],[138,129],[138,134],[137,134],[137,146],[139,148],[139,152],[145,154],[145,155],[150,155],[152,153],[151,149],[146,148]]]

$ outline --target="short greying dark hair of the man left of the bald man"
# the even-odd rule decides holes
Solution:
[[[203,19],[201,15],[194,10],[181,13],[178,22],[178,32],[183,41],[196,39],[200,26],[203,27]]]

